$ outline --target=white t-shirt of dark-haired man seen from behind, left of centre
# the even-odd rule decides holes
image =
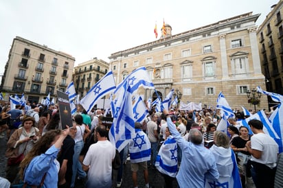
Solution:
[[[87,187],[111,187],[115,147],[110,141],[98,141],[87,151],[83,164],[89,166]]]

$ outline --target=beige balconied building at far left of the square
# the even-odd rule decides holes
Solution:
[[[14,38],[1,81],[1,91],[25,94],[30,102],[41,102],[50,93],[65,92],[71,82],[75,58],[62,51],[38,45],[19,36]],[[56,101],[56,100],[55,100]]]

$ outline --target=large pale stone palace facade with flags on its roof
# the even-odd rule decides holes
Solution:
[[[256,36],[259,16],[249,12],[175,35],[166,25],[170,35],[111,54],[110,69],[120,83],[137,67],[146,67],[161,98],[174,88],[183,94],[181,102],[215,107],[222,91],[231,108],[253,108],[246,92],[266,89]],[[137,93],[156,97],[153,90]],[[266,96],[260,108],[268,108]]]

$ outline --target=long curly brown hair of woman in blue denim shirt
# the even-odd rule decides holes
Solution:
[[[39,156],[41,154],[44,154],[50,147],[54,139],[61,134],[61,130],[49,130],[46,132],[41,139],[39,139],[38,142],[36,142],[30,150],[30,152],[27,153],[25,158],[23,158],[23,161],[21,161],[20,164],[20,178],[23,180],[23,175],[25,172],[25,168],[30,164],[30,161],[36,156]]]

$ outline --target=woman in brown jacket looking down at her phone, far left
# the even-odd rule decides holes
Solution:
[[[19,157],[21,154],[24,156],[27,155],[32,150],[34,144],[39,140],[40,133],[34,124],[35,121],[33,117],[25,117],[25,119],[23,119],[23,126],[16,129],[8,140],[5,153],[5,156],[8,158],[6,178],[10,183],[14,182],[19,172],[19,163],[21,162],[12,162],[14,158]]]

